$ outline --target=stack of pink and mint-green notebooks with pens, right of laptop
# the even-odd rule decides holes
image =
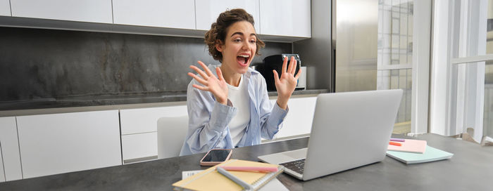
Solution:
[[[391,139],[391,142],[392,145],[389,144],[389,147],[387,147],[387,156],[405,164],[434,162],[442,159],[450,159],[454,155],[450,152],[428,146],[426,140]]]

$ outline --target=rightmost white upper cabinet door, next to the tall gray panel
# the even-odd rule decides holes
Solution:
[[[310,0],[262,0],[260,17],[261,34],[311,37]]]

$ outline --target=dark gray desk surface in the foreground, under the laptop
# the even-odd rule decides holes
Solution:
[[[399,136],[396,136],[399,137]],[[385,157],[382,162],[361,166],[303,182],[283,173],[278,179],[289,190],[492,190],[493,147],[425,134],[418,139],[454,153],[439,162],[406,165]],[[301,149],[308,138],[236,148],[233,159],[257,160],[257,156]],[[172,190],[182,171],[199,166],[204,154],[158,159],[103,169],[63,173],[0,183],[0,190]]]

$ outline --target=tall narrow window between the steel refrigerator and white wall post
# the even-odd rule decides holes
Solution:
[[[413,1],[378,4],[377,90],[401,88],[404,95],[393,133],[411,132]]]

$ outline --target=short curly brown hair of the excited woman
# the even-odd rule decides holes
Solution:
[[[248,21],[251,23],[251,25],[255,25],[253,16],[251,16],[249,13],[246,13],[246,11],[244,11],[244,9],[242,8],[235,8],[220,13],[216,22],[212,23],[211,29],[206,32],[204,42],[207,44],[209,54],[212,55],[212,58],[214,58],[214,60],[219,60],[220,62],[223,61],[223,54],[216,49],[216,44],[218,43],[218,40],[224,43],[226,39],[227,28],[235,22],[239,21]],[[257,48],[255,54],[261,55],[260,53],[258,53],[258,51],[265,45],[266,44],[257,37]]]

